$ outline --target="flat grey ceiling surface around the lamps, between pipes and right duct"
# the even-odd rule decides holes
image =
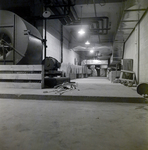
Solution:
[[[112,45],[123,2],[120,0],[112,1],[112,3],[98,3],[97,1],[79,3],[74,8],[80,18],[80,25],[75,25],[75,23],[66,25],[72,33],[70,48],[81,53],[86,59],[108,60],[113,51]],[[99,26],[99,23],[104,26],[102,27],[102,24]],[[86,31],[82,36],[78,34],[80,28]],[[87,40],[90,45],[85,45]],[[90,53],[90,50],[94,53]]]

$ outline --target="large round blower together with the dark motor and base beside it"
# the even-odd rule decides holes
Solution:
[[[44,82],[54,87],[69,78],[58,71],[61,63],[47,57],[42,61],[43,39],[39,31],[17,14],[0,10],[0,65],[44,65]]]

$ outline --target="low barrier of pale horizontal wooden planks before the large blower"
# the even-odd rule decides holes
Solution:
[[[41,89],[44,87],[42,65],[0,65],[0,88]]]

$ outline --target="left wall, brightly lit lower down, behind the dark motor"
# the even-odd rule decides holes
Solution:
[[[59,20],[47,20],[47,50],[46,56],[56,58],[61,62],[61,23]],[[44,38],[44,30],[43,30]],[[63,27],[63,63],[74,64],[75,59],[80,61],[79,55],[68,48],[70,40],[69,32]]]

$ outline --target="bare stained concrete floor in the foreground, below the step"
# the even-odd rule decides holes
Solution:
[[[0,150],[148,150],[148,104],[0,99]]]

